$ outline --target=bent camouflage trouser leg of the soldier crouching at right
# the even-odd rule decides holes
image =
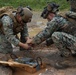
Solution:
[[[54,32],[52,39],[64,56],[76,53],[76,37],[64,32]]]

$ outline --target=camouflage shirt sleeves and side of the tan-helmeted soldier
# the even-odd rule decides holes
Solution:
[[[11,44],[17,46],[20,41],[16,38],[16,35],[14,35],[13,20],[9,16],[3,16],[1,21],[3,23],[5,35],[0,32],[0,52],[11,53],[13,50]],[[23,37],[28,36],[28,29],[26,24],[24,24],[21,34],[23,34]]]

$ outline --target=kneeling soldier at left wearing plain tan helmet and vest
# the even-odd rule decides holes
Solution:
[[[13,52],[12,45],[29,49],[30,46],[24,43],[29,40],[27,23],[31,22],[32,12],[28,8],[19,7],[16,11],[7,11],[0,14],[0,60],[8,60]],[[16,34],[21,33],[21,41]],[[9,67],[0,65],[1,75],[12,75]]]

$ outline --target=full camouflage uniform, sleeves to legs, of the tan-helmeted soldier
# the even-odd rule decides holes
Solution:
[[[15,13],[13,13],[13,15],[15,15]],[[13,32],[13,20],[8,15],[4,15],[1,18],[1,21],[5,34],[0,30],[0,60],[8,60],[10,58],[10,54],[13,52],[11,44],[18,46],[20,41],[16,38],[16,33]],[[23,30],[21,31],[21,36],[28,36],[28,29],[25,23]],[[12,75],[12,70],[9,67],[0,65],[0,71],[1,75]]]

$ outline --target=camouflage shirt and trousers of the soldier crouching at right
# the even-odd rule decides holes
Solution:
[[[33,43],[35,45],[40,44],[50,37],[53,38],[54,43],[57,44],[60,51],[66,51],[66,46],[68,49],[73,50],[73,52],[76,51],[76,25],[67,19],[56,15],[50,22],[47,23],[47,27],[34,37]],[[67,50],[67,52],[69,51]]]

